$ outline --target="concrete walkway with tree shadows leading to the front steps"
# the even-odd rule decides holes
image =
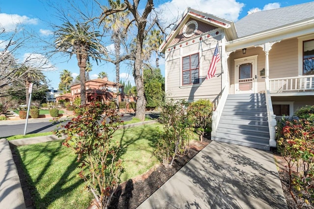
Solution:
[[[212,141],[138,209],[287,209],[273,154]]]

